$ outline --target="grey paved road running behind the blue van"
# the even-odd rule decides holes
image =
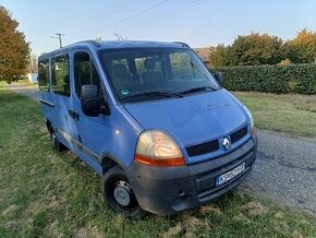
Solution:
[[[38,100],[35,88],[9,88]],[[316,140],[271,131],[258,131],[258,136],[257,160],[242,188],[316,215]]]

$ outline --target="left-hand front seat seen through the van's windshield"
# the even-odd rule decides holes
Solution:
[[[117,87],[133,85],[133,75],[124,64],[116,64],[112,68],[112,82]]]

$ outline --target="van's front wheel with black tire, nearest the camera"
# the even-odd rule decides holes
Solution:
[[[109,206],[126,217],[142,218],[146,213],[139,206],[124,170],[118,165],[104,176],[102,193]]]

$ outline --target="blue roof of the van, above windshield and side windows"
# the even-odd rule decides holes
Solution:
[[[71,44],[61,49],[57,49],[50,52],[46,52],[39,56],[39,58],[48,58],[53,55],[62,53],[64,51],[75,49],[78,47],[88,47],[90,49],[119,49],[119,48],[142,48],[142,47],[172,47],[172,48],[189,48],[185,43],[173,41],[149,41],[149,40],[84,40]]]

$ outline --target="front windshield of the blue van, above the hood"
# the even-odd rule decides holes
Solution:
[[[102,50],[100,59],[120,102],[183,97],[219,88],[191,49]]]

